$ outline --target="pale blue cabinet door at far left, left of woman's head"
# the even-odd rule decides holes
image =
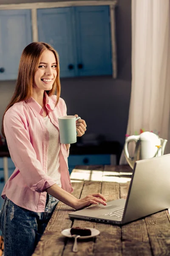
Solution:
[[[17,79],[21,53],[31,41],[31,11],[0,10],[0,80]]]

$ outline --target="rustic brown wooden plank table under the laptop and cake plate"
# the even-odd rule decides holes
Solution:
[[[73,195],[83,198],[101,192],[107,201],[126,198],[132,170],[129,166],[77,166],[71,174]],[[73,209],[59,202],[33,256],[163,256],[170,255],[170,216],[168,210],[133,221],[122,227],[68,217]],[[77,253],[73,239],[61,231],[72,226],[100,231],[96,238],[79,240]]]

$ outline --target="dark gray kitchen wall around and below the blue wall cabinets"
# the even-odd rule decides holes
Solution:
[[[45,0],[0,0],[0,3],[45,2]],[[52,0],[51,0],[52,2]],[[125,141],[131,90],[131,0],[116,7],[118,77],[61,79],[61,97],[68,114],[79,114],[86,133],[105,135],[106,140]],[[0,81],[0,120],[14,91],[15,81]]]

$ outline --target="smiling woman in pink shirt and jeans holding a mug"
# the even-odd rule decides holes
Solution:
[[[60,144],[57,121],[66,115],[66,105],[59,96],[57,52],[42,42],[29,44],[21,55],[16,89],[3,115],[2,132],[16,167],[2,192],[0,229],[5,256],[33,253],[58,201],[74,209],[106,205],[99,193],[83,199],[71,195],[70,145]],[[82,136],[85,121],[79,119],[76,129],[77,136]]]

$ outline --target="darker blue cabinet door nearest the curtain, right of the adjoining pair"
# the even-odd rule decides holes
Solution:
[[[109,6],[75,7],[79,76],[111,75]]]

